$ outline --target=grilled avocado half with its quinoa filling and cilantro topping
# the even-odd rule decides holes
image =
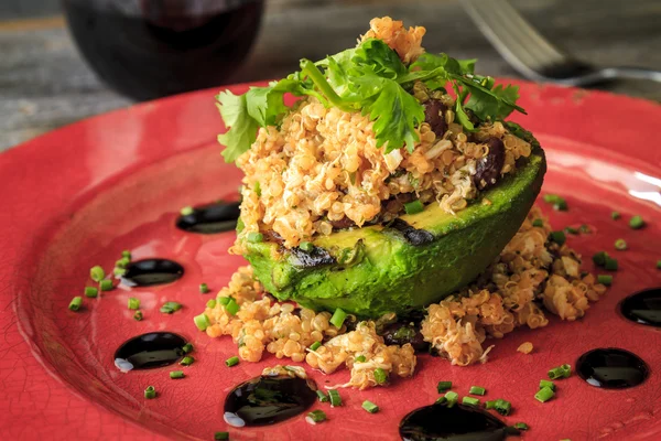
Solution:
[[[523,112],[516,86],[379,20],[355,49],[218,96],[224,155],[246,173],[231,251],[279,300],[372,318],[473,281],[545,172],[537,140],[503,122]]]

